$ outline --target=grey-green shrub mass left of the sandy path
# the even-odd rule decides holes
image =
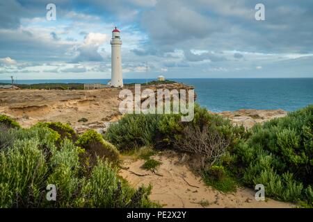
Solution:
[[[113,148],[101,135],[89,131],[74,143],[50,126],[0,131],[0,207],[158,206],[149,200],[151,187],[131,188],[109,159],[97,157],[85,169],[81,158],[94,143]],[[56,201],[46,198],[49,184],[56,185]]]

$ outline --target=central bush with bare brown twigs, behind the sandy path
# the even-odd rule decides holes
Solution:
[[[188,153],[188,164],[204,176],[207,183],[213,181],[216,189],[223,191],[234,191],[236,182],[228,175],[214,178],[208,169],[214,163],[230,161],[227,160],[230,150],[245,137],[243,127],[232,126],[229,120],[210,114],[199,105],[195,105],[194,119],[190,122],[182,122],[180,114],[127,114],[112,124],[104,135],[120,151],[153,146],[157,150]],[[147,169],[152,165],[157,167],[150,158],[144,165]]]

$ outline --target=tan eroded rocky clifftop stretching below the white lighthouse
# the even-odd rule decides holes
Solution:
[[[125,88],[134,93],[134,87],[129,85]],[[158,89],[193,89],[182,83],[142,84],[141,92],[147,88],[152,89],[156,95]],[[102,133],[109,123],[122,117],[119,111],[120,90],[0,90],[0,114],[13,117],[23,127],[33,126],[38,121],[60,121],[70,123],[78,133],[88,129]]]

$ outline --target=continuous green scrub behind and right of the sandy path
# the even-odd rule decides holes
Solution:
[[[195,118],[179,114],[127,114],[104,136],[120,151],[141,146],[188,153],[207,185],[234,191],[238,183],[266,196],[313,205],[313,105],[250,130],[195,105]]]

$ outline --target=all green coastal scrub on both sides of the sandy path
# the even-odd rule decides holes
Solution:
[[[266,197],[313,206],[313,105],[250,130],[195,105],[193,121],[180,114],[127,114],[102,137],[81,136],[62,123],[30,129],[2,117],[0,207],[153,207],[151,187],[131,189],[117,174],[119,153],[136,153],[144,169],[164,149],[188,156],[204,182],[223,192],[263,184]],[[58,200],[45,200],[47,184]]]

